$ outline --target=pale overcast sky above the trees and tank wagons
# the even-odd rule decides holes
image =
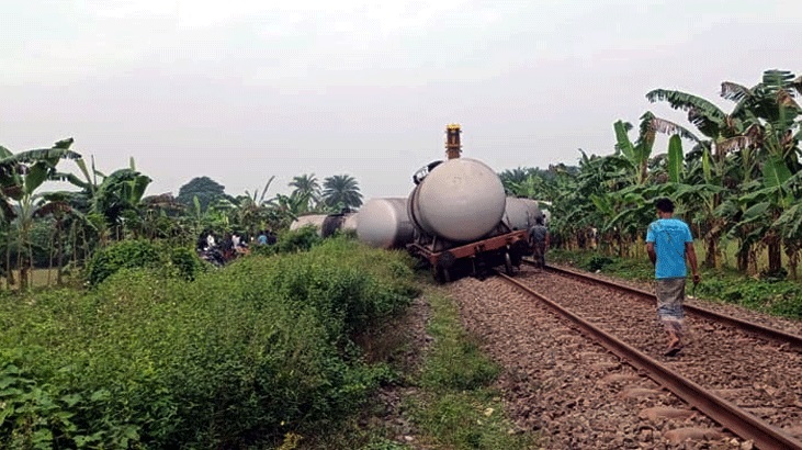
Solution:
[[[150,194],[347,173],[404,196],[448,123],[497,171],[576,164],[619,119],[685,120],[648,90],[800,75],[800,0],[4,0],[0,145],[133,156]]]

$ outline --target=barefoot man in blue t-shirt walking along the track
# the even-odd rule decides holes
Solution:
[[[657,199],[657,218],[646,232],[646,251],[655,266],[657,279],[657,316],[668,334],[666,356],[675,356],[682,349],[685,333],[685,278],[686,258],[693,273],[693,284],[699,283],[697,254],[693,237],[688,225],[673,217],[674,203],[669,199]]]

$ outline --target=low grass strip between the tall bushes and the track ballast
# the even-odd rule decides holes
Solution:
[[[499,392],[493,383],[500,368],[483,355],[479,342],[462,326],[455,302],[429,280],[418,277],[422,299],[430,311],[426,333],[431,338],[420,348],[405,329],[383,330],[373,344],[382,360],[395,361],[394,383],[404,392],[398,410],[386,416],[386,405],[375,401],[334,434],[307,440],[310,449],[402,450],[431,449],[530,449],[536,436],[521,432],[505,416]],[[417,347],[415,347],[417,346]],[[417,352],[420,360],[410,364],[400,355]],[[374,355],[375,357],[376,355]],[[410,439],[398,440],[398,427],[386,420],[400,419],[411,425]]]

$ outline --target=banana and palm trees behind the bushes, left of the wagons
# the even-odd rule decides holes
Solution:
[[[275,232],[306,213],[340,213],[362,204],[359,183],[348,175],[320,181],[304,173],[289,183],[290,194],[269,195],[271,177],[261,190],[236,196],[208,177],[199,177],[181,187],[178,196],[146,196],[153,180],[136,169],[133,158],[129,167],[105,173],[72,144],[69,138],[16,154],[0,146],[0,243],[5,250],[0,274],[8,286],[16,284],[19,270],[19,286],[26,289],[35,267],[55,268],[54,281],[60,283],[65,270],[83,267],[112,241],[146,238],[192,245],[203,230]],[[72,161],[77,173],[63,171],[64,161]],[[46,181],[70,190],[44,191]]]

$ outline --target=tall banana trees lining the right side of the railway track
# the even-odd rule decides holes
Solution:
[[[518,168],[501,179],[512,194],[551,202],[552,232],[566,247],[581,246],[592,229],[602,251],[642,251],[653,201],[669,196],[702,240],[705,266],[720,267],[723,246],[732,243],[737,270],[795,278],[802,250],[802,77],[766,70],[750,87],[722,82],[720,94],[731,109],[679,90],[652,90],[651,102],[687,113],[688,123],[647,111],[637,126],[613,124],[611,155],[579,150],[576,167]],[[669,139],[656,154],[658,134]],[[760,255],[768,257],[765,268],[758,267]]]

